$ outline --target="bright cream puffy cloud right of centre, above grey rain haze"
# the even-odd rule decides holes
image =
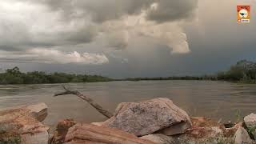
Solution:
[[[108,46],[123,50],[129,45],[130,38],[153,38],[158,44],[170,48],[171,54],[187,54],[190,52],[186,34],[182,29],[183,22],[156,23],[146,19],[146,11],[142,14],[127,16],[121,20],[108,21],[102,24]]]

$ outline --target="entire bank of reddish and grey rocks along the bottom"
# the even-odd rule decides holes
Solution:
[[[54,134],[42,124],[47,106],[38,103],[0,110],[0,144],[198,144],[256,143],[256,114],[222,124],[192,117],[168,98],[120,103],[105,122],[58,122]]]

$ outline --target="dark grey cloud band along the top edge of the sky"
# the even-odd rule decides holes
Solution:
[[[30,0],[30,2],[34,1]],[[127,14],[140,14],[142,10],[148,10],[149,20],[169,22],[190,18],[198,6],[198,0],[45,0],[39,2],[49,6],[51,10],[62,11],[67,19],[90,14],[94,22],[106,22],[122,18]],[[156,9],[149,10],[154,3],[158,5]]]

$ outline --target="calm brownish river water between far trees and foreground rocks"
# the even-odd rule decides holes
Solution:
[[[256,85],[211,81],[141,81],[64,84],[93,98],[114,112],[120,102],[138,102],[150,98],[170,98],[190,116],[206,116],[222,122],[236,121],[256,113]],[[0,86],[0,108],[45,102],[44,121],[55,126],[58,120],[74,118],[80,122],[101,122],[106,118],[74,95],[53,97],[62,84]]]

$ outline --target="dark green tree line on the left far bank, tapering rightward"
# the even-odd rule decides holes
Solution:
[[[0,84],[39,84],[39,83],[68,83],[68,82],[107,82],[111,78],[100,75],[66,74],[34,71],[22,73],[18,67],[7,69],[0,74]]]

